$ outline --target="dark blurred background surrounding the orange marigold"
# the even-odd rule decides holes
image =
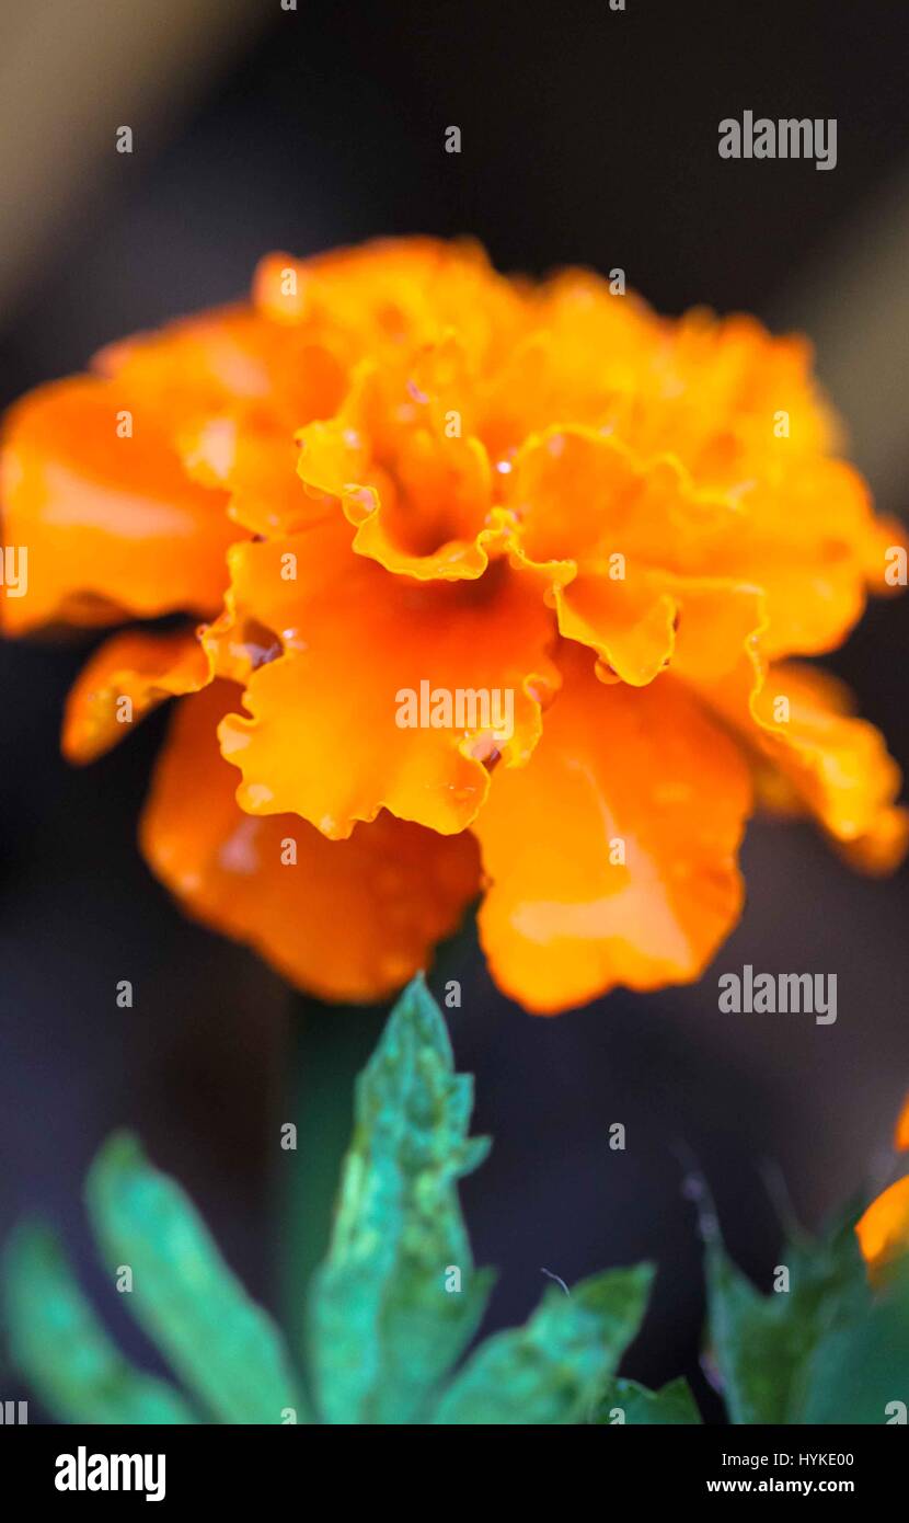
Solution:
[[[270,248],[469,231],[506,270],[620,265],[662,311],[807,329],[879,504],[906,513],[907,43],[909,9],[888,0],[18,0],[0,18],[2,401],[241,294]],[[717,123],[746,108],[836,117],[836,169],[720,160]],[[114,152],[122,123],[132,155]],[[903,766],[907,634],[909,600],[879,605],[831,661]],[[0,1234],[23,1209],[53,1215],[100,1292],[79,1188],[128,1122],[274,1304],[286,993],[184,921],[137,854],[164,716],[85,772],[59,760],[85,650],[0,646]],[[717,967],[836,972],[834,1027],[720,1014],[716,970],[544,1020],[461,956],[452,1031],[495,1136],[464,1186],[477,1258],[501,1269],[490,1327],[527,1314],[542,1267],[571,1282],[649,1256],[658,1296],[626,1372],[696,1372],[681,1157],[764,1288],[780,1246],[766,1165],[809,1223],[886,1168],[909,1087],[909,876],[853,877],[810,830],[769,824],[745,870]],[[119,978],[132,1011],[114,1007]]]

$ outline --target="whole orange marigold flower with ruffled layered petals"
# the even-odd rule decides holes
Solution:
[[[62,743],[180,699],[142,845],[199,918],[368,999],[483,891],[495,979],[557,1011],[699,976],[755,790],[904,851],[880,736],[798,659],[903,545],[836,448],[751,318],[472,244],[274,254],[11,411],[3,624],[195,620],[102,644]]]

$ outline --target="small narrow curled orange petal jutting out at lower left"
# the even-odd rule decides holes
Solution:
[[[209,661],[193,631],[113,635],[82,667],[67,699],[62,752],[94,762],[166,698],[196,693]]]

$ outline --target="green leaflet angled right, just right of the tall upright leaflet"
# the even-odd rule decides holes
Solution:
[[[551,1288],[525,1327],[489,1339],[442,1397],[437,1424],[586,1422],[635,1337],[653,1270],[614,1269]]]

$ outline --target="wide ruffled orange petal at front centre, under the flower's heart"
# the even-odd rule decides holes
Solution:
[[[221,726],[250,813],[292,810],[341,839],[388,809],[449,835],[483,804],[486,763],[527,762],[559,682],[533,574],[498,560],[480,582],[417,585],[352,556],[333,521],[236,547],[231,579],[234,617],[282,644],[248,678],[251,717]]]

